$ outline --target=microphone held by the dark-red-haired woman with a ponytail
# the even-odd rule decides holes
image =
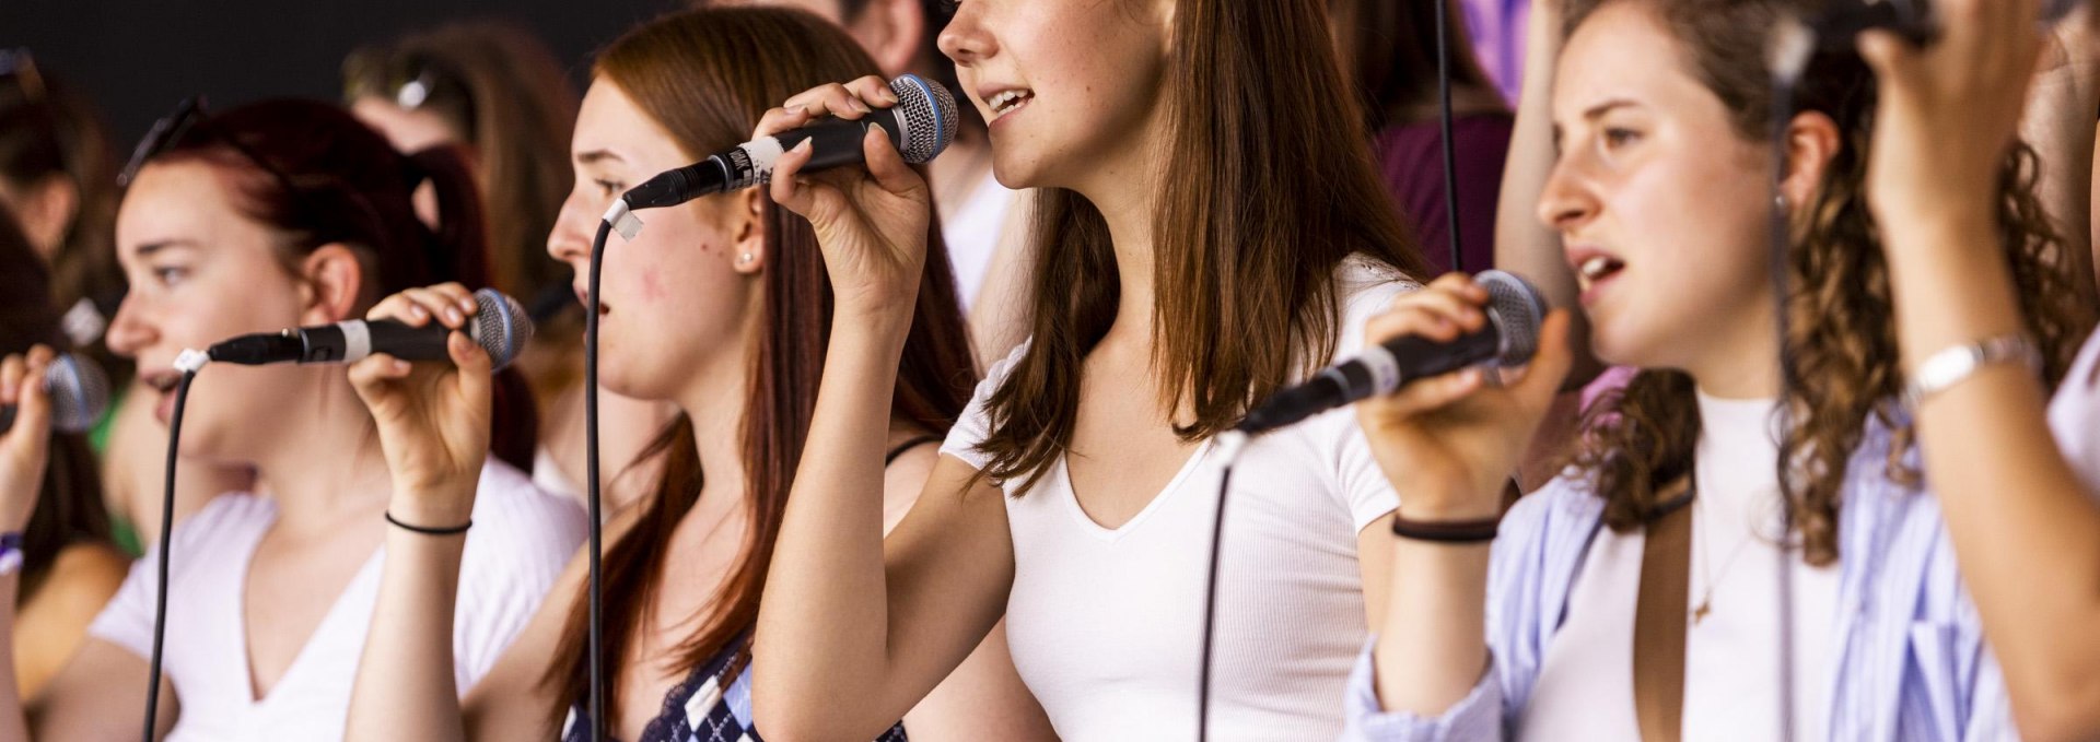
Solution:
[[[489,352],[496,369],[517,361],[531,340],[531,321],[517,300],[496,291],[475,291],[475,317],[464,329],[481,350]],[[401,361],[445,361],[445,337],[452,329],[428,323],[410,327],[391,319],[286,329],[279,333],[239,335],[208,350],[212,361],[239,365],[269,363],[357,363],[374,352],[384,352]]]

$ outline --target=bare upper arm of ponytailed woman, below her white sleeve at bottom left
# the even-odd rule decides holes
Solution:
[[[38,740],[136,740],[145,717],[145,658],[105,639],[88,637],[50,681],[44,708],[29,719]],[[160,679],[155,736],[174,727],[174,683]]]

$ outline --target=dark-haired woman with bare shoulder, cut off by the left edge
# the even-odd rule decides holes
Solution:
[[[59,312],[50,302],[50,272],[0,208],[0,354],[27,354],[44,344],[65,348]],[[0,405],[17,405],[19,394],[0,384]],[[29,425],[29,423],[23,423]],[[15,688],[29,708],[38,708],[50,677],[86,639],[88,623],[116,595],[130,568],[109,537],[94,453],[82,434],[52,432],[42,482],[0,476],[6,493],[36,493],[36,507],[4,514],[21,543],[17,553],[0,551],[0,568],[19,568],[15,589]],[[27,472],[21,472],[29,476]],[[0,528],[6,528],[0,526]],[[8,566],[8,562],[13,566]]]

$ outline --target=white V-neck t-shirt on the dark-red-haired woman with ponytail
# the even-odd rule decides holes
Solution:
[[[378,516],[374,516],[378,518]],[[475,497],[475,528],[460,562],[454,612],[454,683],[472,688],[496,664],[584,541],[584,511],[540,493],[523,472],[489,459]],[[277,505],[250,493],[214,497],[170,537],[164,671],[183,715],[168,742],[340,740],[378,602],[384,547],[374,551],[315,627],[269,696],[254,700],[242,595],[248,564]],[[132,566],[88,635],[153,650],[155,553]]]

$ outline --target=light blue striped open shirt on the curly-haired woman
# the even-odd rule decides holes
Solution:
[[[1938,501],[1888,478],[1890,430],[1869,423],[1840,514],[1840,614],[1829,740],[2016,740],[2006,683],[1955,570]],[[1907,459],[1913,467],[1917,455]],[[1441,717],[1384,713],[1371,652],[1348,688],[1348,740],[1504,740],[1537,683],[1546,648],[1604,501],[1562,478],[1510,509],[1487,579],[1493,667]],[[1814,677],[1806,675],[1804,677]]]

